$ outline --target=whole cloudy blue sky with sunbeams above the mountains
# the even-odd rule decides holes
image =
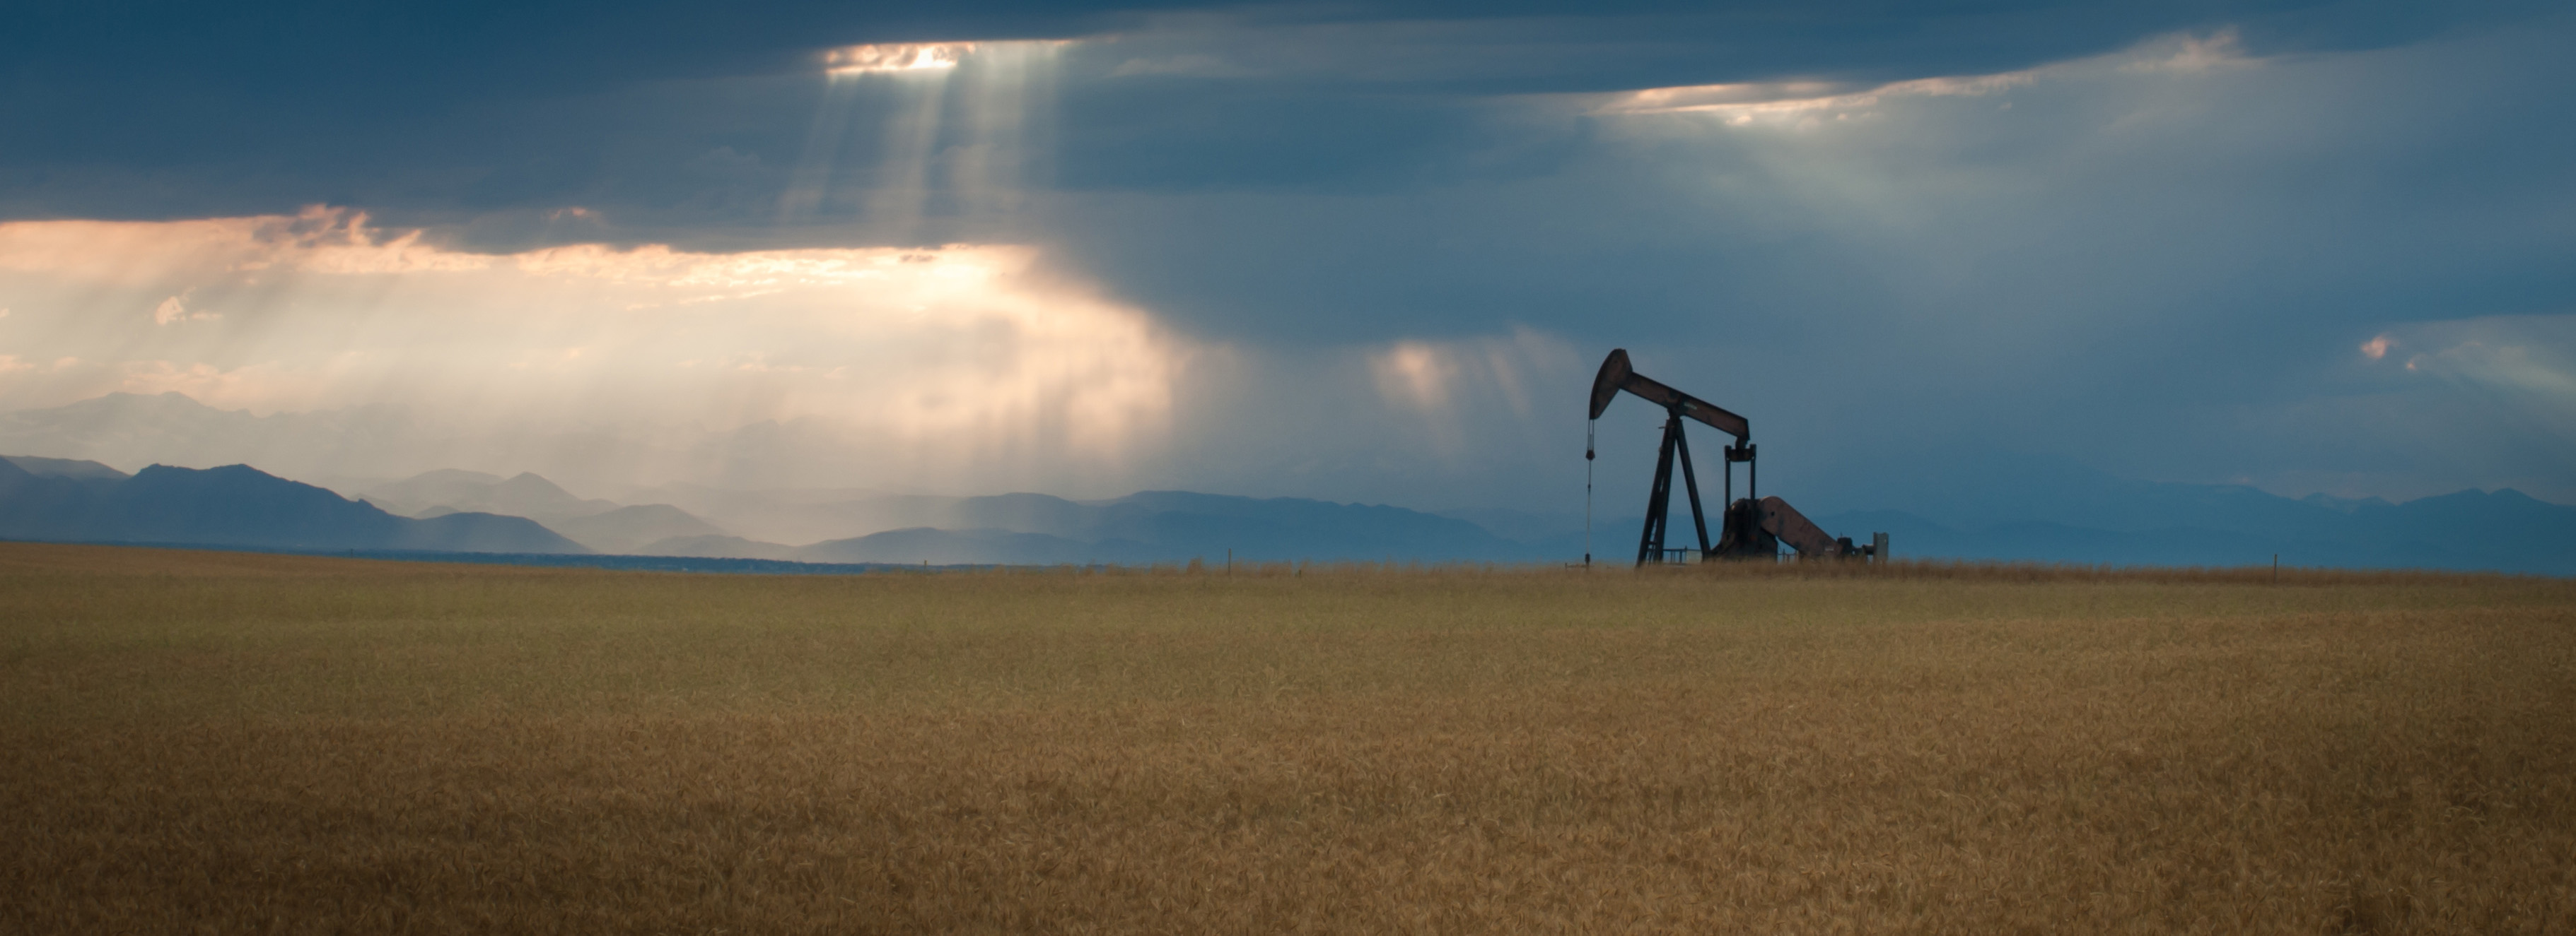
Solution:
[[[1561,514],[1625,347],[1808,512],[2576,501],[2545,3],[13,8],[0,409],[435,437],[307,473]]]

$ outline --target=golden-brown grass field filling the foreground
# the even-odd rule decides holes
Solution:
[[[0,543],[0,931],[2571,933],[2576,584]]]

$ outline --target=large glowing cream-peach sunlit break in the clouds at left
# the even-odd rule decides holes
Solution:
[[[183,391],[636,432],[819,419],[876,440],[850,473],[881,481],[1115,465],[1159,440],[1188,360],[1028,247],[471,255],[335,208],[0,224],[0,303],[13,363],[82,360],[0,373],[8,409]]]

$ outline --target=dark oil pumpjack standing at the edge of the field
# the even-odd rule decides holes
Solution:
[[[1628,365],[1628,350],[1613,350],[1602,360],[1600,375],[1592,378],[1592,419],[1600,419],[1610,401],[1620,391],[1636,393],[1638,399],[1664,406],[1664,447],[1654,460],[1654,491],[1646,494],[1646,530],[1636,537],[1636,563],[1664,563],[1690,555],[1690,548],[1664,548],[1664,527],[1672,514],[1672,468],[1674,460],[1682,465],[1682,491],[1690,496],[1690,525],[1700,535],[1700,558],[1780,558],[1780,545],[1798,550],[1798,558],[1860,558],[1860,561],[1886,561],[1888,535],[1873,532],[1868,545],[1852,545],[1852,537],[1834,537],[1816,527],[1806,514],[1777,496],[1759,496],[1757,463],[1754,455],[1754,429],[1752,422],[1728,411],[1726,406],[1703,401],[1698,396],[1674,391],[1636,368]],[[1726,517],[1718,525],[1718,543],[1708,543],[1708,517],[1700,512],[1700,473],[1690,465],[1690,440],[1682,435],[1682,419],[1698,419],[1718,432],[1734,437],[1726,445],[1726,481],[1723,504]],[[1584,445],[1584,460],[1592,458],[1589,442]],[[1736,499],[1736,463],[1744,463],[1744,499]],[[1587,558],[1589,561],[1589,558]]]

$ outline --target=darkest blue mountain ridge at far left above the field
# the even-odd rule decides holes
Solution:
[[[39,476],[0,460],[0,537],[291,550],[587,553],[523,517],[394,517],[250,465]]]

